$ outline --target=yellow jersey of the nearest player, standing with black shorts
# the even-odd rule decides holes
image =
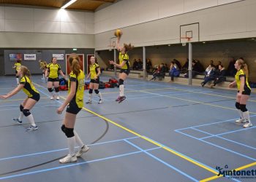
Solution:
[[[83,74],[82,70],[80,70],[79,75],[73,74],[73,71],[71,71],[71,73],[69,74],[68,93],[70,92],[70,82],[76,82],[75,96],[74,98],[72,98],[70,102],[76,103],[78,108],[83,108],[84,79],[85,79],[85,75]]]

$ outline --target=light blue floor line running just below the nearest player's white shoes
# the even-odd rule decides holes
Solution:
[[[155,147],[155,148],[152,148],[152,149],[147,149],[146,151],[152,151],[152,150],[156,150],[156,149],[161,149],[161,147]],[[59,170],[59,169],[67,168],[67,167],[84,165],[84,164],[88,164],[88,163],[91,163],[91,162],[99,162],[99,161],[104,161],[104,160],[108,160],[108,159],[115,159],[115,158],[118,158],[118,157],[126,157],[126,156],[129,156],[129,155],[132,155],[132,154],[140,154],[142,152],[143,151],[134,151],[134,152],[126,153],[126,154],[119,154],[119,155],[112,156],[112,157],[94,159],[94,160],[90,160],[90,161],[86,161],[86,162],[78,162],[78,163],[75,163],[75,164],[72,164],[72,165],[62,165],[62,166],[59,166],[59,167],[51,167],[51,168],[48,168],[48,169],[45,169],[45,170],[34,170],[32,172],[29,172],[29,173],[21,173],[21,174],[18,174],[18,175],[8,175],[8,176],[1,177],[0,180],[10,179],[10,178],[17,178],[17,177],[20,177],[20,176],[23,176],[23,175],[32,175],[32,174],[37,174],[37,173],[43,173],[43,172],[48,172],[48,171],[51,171],[51,170]]]

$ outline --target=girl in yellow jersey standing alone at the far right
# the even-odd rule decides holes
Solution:
[[[235,87],[237,85],[238,93],[236,95],[236,108],[240,115],[240,119],[236,120],[237,123],[245,123],[244,127],[252,127],[252,123],[249,119],[249,111],[246,108],[246,101],[251,94],[251,88],[248,83],[248,68],[244,60],[236,60],[235,68],[236,80],[229,84],[229,87]]]

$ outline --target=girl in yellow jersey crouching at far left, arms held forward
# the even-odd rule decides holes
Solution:
[[[28,98],[26,98],[23,101],[23,103],[20,104],[20,116],[13,120],[21,124],[23,116],[26,116],[30,123],[30,127],[26,129],[26,131],[37,130],[38,127],[34,123],[34,117],[29,110],[31,110],[31,108],[33,108],[33,106],[40,99],[39,92],[35,89],[34,85],[32,84],[31,79],[29,77],[31,76],[31,74],[29,69],[26,68],[26,66],[20,67],[20,70],[18,71],[18,76],[20,76],[20,84],[18,85],[18,87],[9,92],[7,95],[0,95],[0,98],[10,98],[16,93],[18,93],[20,90],[23,90],[23,92],[25,92],[25,94],[28,95]]]

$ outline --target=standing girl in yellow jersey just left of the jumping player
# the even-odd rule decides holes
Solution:
[[[99,95],[99,102],[98,103],[103,103],[102,100],[102,94],[99,92],[99,75],[100,75],[100,68],[97,63],[95,63],[95,57],[91,56],[90,58],[91,61],[91,66],[90,66],[90,74],[87,76],[87,79],[89,77],[91,78],[91,82],[89,85],[89,100],[86,103],[92,103],[91,101],[91,96],[92,96],[92,91]]]

